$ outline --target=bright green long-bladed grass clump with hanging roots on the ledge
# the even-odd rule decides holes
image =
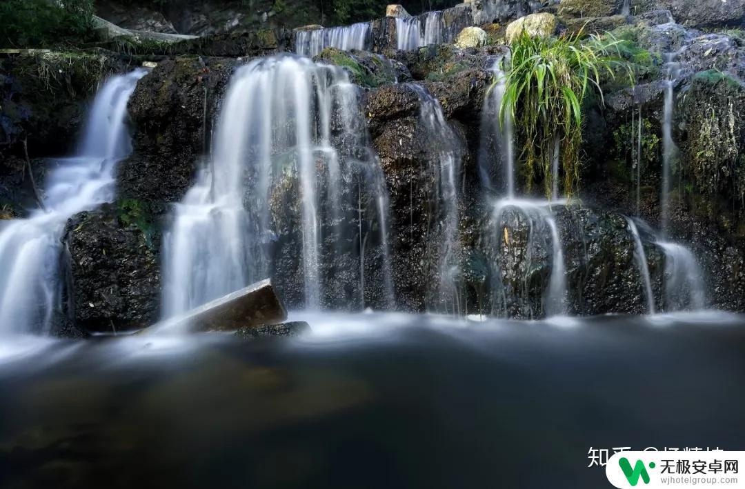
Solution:
[[[559,37],[530,37],[522,34],[512,45],[507,88],[500,119],[513,117],[527,190],[542,177],[545,194],[551,197],[554,146],[564,175],[564,192],[571,196],[580,180],[582,105],[592,92],[600,96],[600,73],[614,76],[618,52],[610,56],[617,41],[581,42],[580,33]],[[558,184],[558,183],[557,183]]]

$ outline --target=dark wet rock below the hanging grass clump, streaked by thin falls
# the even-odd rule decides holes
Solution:
[[[565,312],[595,315],[647,312],[644,280],[626,218],[579,206],[554,206],[567,288]],[[473,312],[509,318],[540,318],[548,308],[554,243],[543,212],[507,207],[495,222],[484,219],[477,247],[490,277],[490,295],[476,297]],[[641,232],[656,309],[663,306],[664,264],[654,238]]]

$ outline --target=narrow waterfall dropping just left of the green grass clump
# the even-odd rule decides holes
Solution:
[[[508,198],[515,196],[515,156],[513,143],[513,119],[509,113],[501,117],[501,104],[507,88],[507,73],[504,64],[509,62],[507,55],[499,57],[492,64],[492,86],[484,97],[481,110],[480,142],[478,150],[478,171],[481,184],[490,192],[495,190],[499,177],[504,181],[504,192]]]

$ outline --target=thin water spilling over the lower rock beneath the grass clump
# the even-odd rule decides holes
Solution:
[[[544,311],[546,315],[563,315],[566,312],[566,296],[567,296],[567,285],[566,285],[566,268],[564,264],[564,250],[562,248],[561,239],[559,237],[559,230],[557,227],[556,218],[552,212],[551,206],[553,205],[566,205],[566,201],[528,201],[522,199],[501,199],[494,205],[492,211],[492,219],[490,226],[495,230],[492,236],[495,238],[495,242],[492,243],[492,248],[495,250],[501,250],[504,244],[507,248],[509,244],[509,232],[508,228],[504,224],[504,212],[507,209],[517,209],[519,212],[527,218],[530,231],[528,236],[528,250],[532,249],[535,244],[543,243],[546,241],[546,236],[550,236],[551,248],[551,276],[548,280],[548,288],[545,291],[543,297]],[[547,231],[548,228],[548,233]],[[526,256],[528,262],[532,259],[530,256]],[[530,271],[530,265],[527,266],[526,270]],[[501,274],[497,274],[501,280]],[[527,277],[526,277],[527,280]],[[525,285],[527,287],[527,285]],[[506,291],[504,291],[504,284],[495,283],[492,284],[492,296],[495,304],[504,304],[504,297]]]

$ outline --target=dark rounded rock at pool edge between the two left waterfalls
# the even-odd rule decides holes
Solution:
[[[159,235],[130,221],[125,206],[73,216],[70,253],[75,322],[91,332],[139,329],[156,321],[160,303]]]

